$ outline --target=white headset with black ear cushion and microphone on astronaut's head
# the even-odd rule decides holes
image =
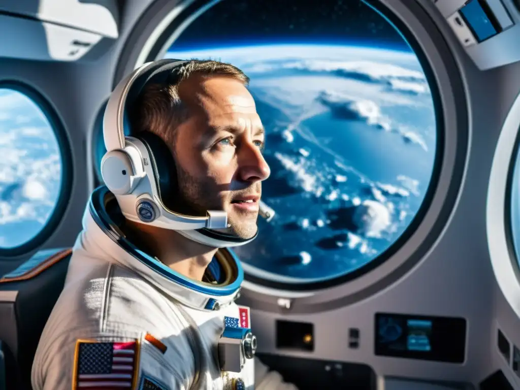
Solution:
[[[125,136],[133,134],[128,113],[145,86],[176,83],[180,68],[188,62],[164,59],[145,63],[115,87],[103,116],[107,153],[101,160],[101,176],[129,220],[176,230],[190,240],[214,248],[244,245],[254,240],[258,232],[243,239],[215,230],[229,227],[223,210],[207,210],[203,216],[175,211],[180,203],[175,161],[160,137],[149,132]],[[262,202],[260,209],[259,215],[269,222],[274,210]]]

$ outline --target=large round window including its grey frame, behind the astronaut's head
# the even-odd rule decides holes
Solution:
[[[271,167],[262,199],[276,212],[235,249],[255,293],[373,292],[424,256],[453,211],[461,79],[424,10],[386,3],[158,2],[128,38],[114,85],[161,58],[221,60],[251,78]]]

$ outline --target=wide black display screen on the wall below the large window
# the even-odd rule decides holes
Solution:
[[[375,315],[376,355],[462,363],[465,340],[463,318]]]

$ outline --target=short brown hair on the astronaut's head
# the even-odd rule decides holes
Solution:
[[[132,134],[147,131],[161,137],[169,146],[174,145],[177,127],[189,117],[188,109],[179,97],[178,85],[191,75],[227,76],[246,86],[249,84],[248,76],[225,62],[192,59],[177,71],[179,77],[175,84],[151,84],[145,87],[129,115]]]

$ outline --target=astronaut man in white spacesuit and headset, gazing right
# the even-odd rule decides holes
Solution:
[[[106,187],[86,207],[34,390],[296,389],[254,357],[235,303],[243,270],[227,248],[256,237],[270,173],[248,82],[230,64],[160,60],[115,88]]]

